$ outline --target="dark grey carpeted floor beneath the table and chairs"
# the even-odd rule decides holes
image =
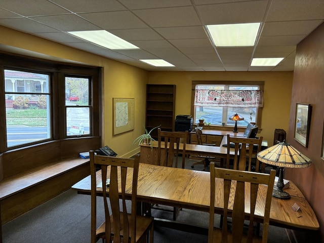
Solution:
[[[186,163],[190,168],[192,161]],[[195,166],[202,170],[203,166]],[[98,197],[98,208],[102,198]],[[171,213],[152,212],[153,216],[168,218]],[[168,214],[168,215],[167,215]],[[103,213],[98,210],[98,223],[103,221]],[[171,218],[170,218],[171,219]],[[183,209],[177,218],[179,222],[208,227],[209,214],[206,212]],[[207,242],[207,235],[182,232],[164,227],[154,227],[155,243]],[[68,190],[47,203],[29,211],[15,220],[3,225],[3,242],[90,242],[90,196]],[[286,230],[270,226],[269,243],[289,243]]]

